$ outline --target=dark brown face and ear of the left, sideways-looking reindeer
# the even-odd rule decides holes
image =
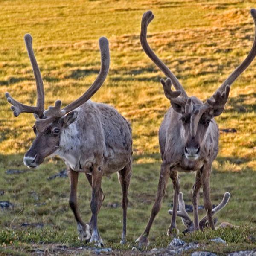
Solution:
[[[23,163],[31,169],[35,169],[43,163],[45,157],[53,154],[58,149],[61,130],[73,123],[76,117],[77,111],[70,112],[50,123],[43,132],[38,132],[34,125],[33,129],[36,137],[29,151],[26,152]]]

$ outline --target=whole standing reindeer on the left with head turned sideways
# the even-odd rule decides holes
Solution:
[[[44,86],[41,73],[32,49],[32,37],[25,35],[25,43],[37,86],[37,105],[23,105],[9,93],[6,98],[12,104],[14,116],[20,113],[34,113],[33,127],[36,138],[24,156],[24,164],[29,168],[38,167],[44,158],[57,154],[66,163],[70,176],[70,207],[73,210],[80,239],[103,244],[99,235],[97,215],[104,194],[101,188],[102,175],[118,172],[122,186],[123,232],[125,243],[128,186],[131,177],[132,138],[131,127],[114,108],[89,101],[101,87],[108,74],[109,48],[107,38],[99,39],[101,69],[91,87],[74,102],[61,109],[61,101],[55,102],[44,111]],[[92,217],[85,224],[79,215],[76,191],[79,172],[84,172],[92,187],[90,208]],[[90,239],[90,240],[89,240]]]

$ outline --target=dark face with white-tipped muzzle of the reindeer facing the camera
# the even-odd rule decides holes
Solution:
[[[193,113],[193,112],[192,112]],[[185,157],[189,160],[197,160],[200,156],[200,149],[204,141],[205,134],[210,125],[212,116],[208,113],[204,113],[199,119],[195,136],[191,136],[191,116],[192,113],[184,113],[181,117],[184,128],[184,136],[186,144],[184,146]]]

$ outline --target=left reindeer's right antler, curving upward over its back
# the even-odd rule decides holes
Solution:
[[[74,110],[75,108],[78,108],[84,102],[87,102],[87,100],[90,99],[93,96],[93,94],[96,93],[97,90],[99,90],[99,88],[102,86],[103,82],[105,81],[108,75],[109,64],[110,64],[110,55],[109,55],[107,38],[105,37],[99,38],[99,48],[101,53],[101,68],[96,80],[93,82],[90,88],[80,98],[76,99],[74,102],[70,103],[62,110],[61,110],[61,101],[60,100],[56,101],[54,107],[50,106],[48,110],[44,111],[45,116],[51,116],[51,117],[64,116],[65,113],[68,113]]]

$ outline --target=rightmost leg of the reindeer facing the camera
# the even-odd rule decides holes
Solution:
[[[212,170],[212,163],[206,163],[202,167],[201,180],[203,184],[204,208],[207,212],[209,227],[211,227],[212,230],[215,230],[215,226],[212,218],[212,201],[210,198],[210,186],[209,186],[211,170]]]

